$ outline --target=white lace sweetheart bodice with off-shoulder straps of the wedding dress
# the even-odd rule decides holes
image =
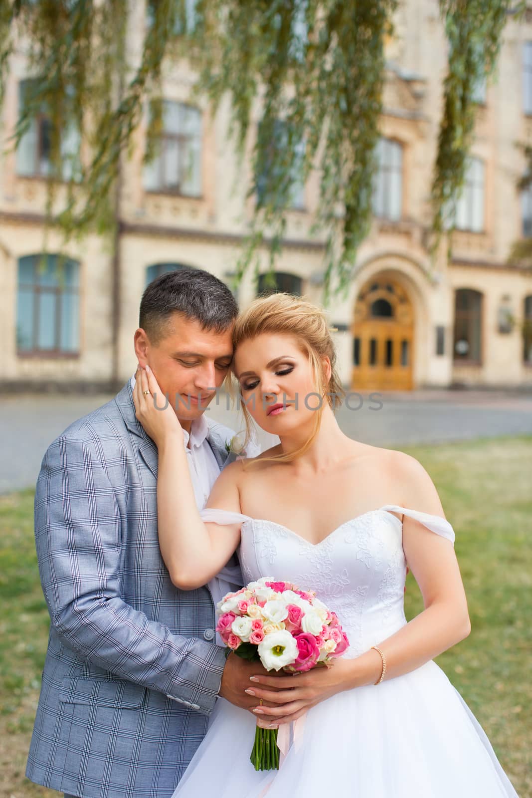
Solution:
[[[350,642],[345,656],[357,657],[407,622],[403,525],[391,511],[420,521],[454,543],[455,533],[446,519],[397,504],[349,519],[317,544],[282,524],[241,513],[206,508],[201,516],[219,524],[241,521],[238,557],[244,583],[271,576],[316,591],[345,628]]]

